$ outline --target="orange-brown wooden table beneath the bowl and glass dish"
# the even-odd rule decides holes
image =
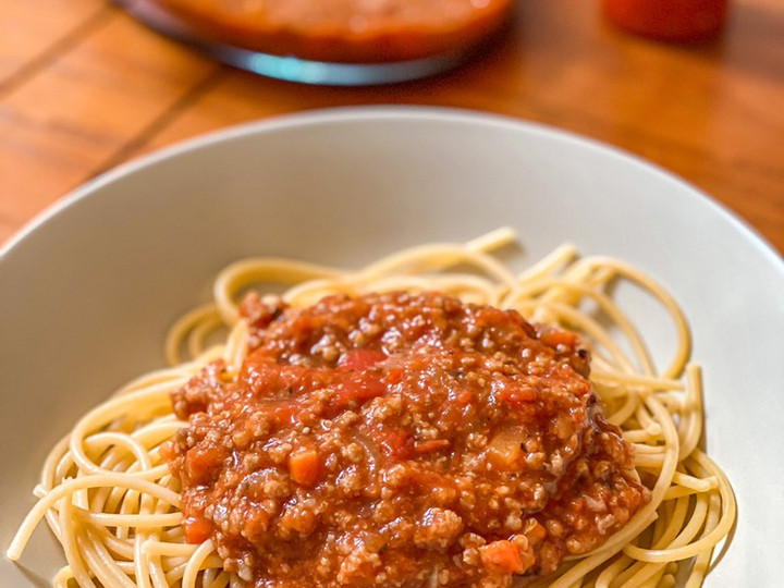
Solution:
[[[441,105],[551,124],[703,188],[784,250],[784,3],[732,0],[697,46],[625,35],[598,0],[520,0],[457,70],[314,87],[234,70],[107,0],[0,0],[0,242],[130,158],[244,121],[347,105]]]

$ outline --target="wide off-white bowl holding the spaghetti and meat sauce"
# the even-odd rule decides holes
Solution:
[[[168,326],[208,298],[226,262],[270,254],[356,266],[502,224],[522,235],[520,265],[572,241],[640,267],[679,299],[706,369],[709,451],[739,501],[735,541],[707,586],[781,586],[781,258],[694,188],[616,150],[416,108],[314,112],[163,150],[76,191],[4,248],[3,551],[50,445],[162,364]],[[41,525],[21,566],[0,561],[0,585],[47,585],[61,561]]]

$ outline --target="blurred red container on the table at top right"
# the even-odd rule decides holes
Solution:
[[[722,29],[727,0],[602,0],[602,11],[611,23],[637,35],[696,41]]]

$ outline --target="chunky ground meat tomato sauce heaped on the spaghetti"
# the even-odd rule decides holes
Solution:
[[[173,393],[188,541],[257,587],[507,587],[647,500],[576,335],[434,293],[249,296],[235,382]]]

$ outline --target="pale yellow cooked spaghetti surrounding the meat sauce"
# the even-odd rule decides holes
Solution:
[[[34,491],[39,501],[8,556],[21,556],[46,517],[68,560],[54,586],[245,585],[223,569],[210,539],[186,542],[180,483],[161,445],[187,425],[172,412],[172,390],[219,358],[225,377],[236,378],[248,348],[240,294],[272,282],[287,286],[282,297],[294,307],[335,293],[439,291],[580,333],[591,350],[590,380],[607,419],[634,445],[635,467],[650,500],[599,549],[566,558],[555,574],[526,586],[645,588],[674,586],[684,577],[687,588],[701,586],[736,506],[727,478],[699,448],[701,376],[688,363],[690,339],[681,309],[640,271],[610,258],[580,259],[569,245],[517,275],[490,255],[513,240],[502,229],[466,244],[414,247],[358,271],[277,258],[229,266],[215,283],[215,302],[172,327],[164,350],[171,367],[127,384],[56,445]],[[661,303],[675,327],[677,343],[661,371],[645,336],[611,295],[623,281]],[[220,336],[224,342],[212,345]]]

